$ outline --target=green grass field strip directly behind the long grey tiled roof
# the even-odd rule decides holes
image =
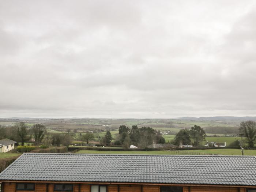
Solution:
[[[239,149],[188,150],[187,152],[211,153],[211,154],[222,154],[222,155],[241,155],[241,150],[239,150]],[[176,151],[97,151],[97,150],[80,150],[76,153],[80,153],[80,154],[176,155]],[[186,151],[184,151],[184,153],[186,153]],[[256,155],[256,150],[244,150],[244,155]]]

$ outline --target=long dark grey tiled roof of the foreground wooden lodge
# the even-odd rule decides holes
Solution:
[[[256,186],[256,157],[25,153],[1,180]]]

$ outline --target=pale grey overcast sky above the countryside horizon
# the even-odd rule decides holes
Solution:
[[[0,0],[0,117],[256,116],[255,0]]]

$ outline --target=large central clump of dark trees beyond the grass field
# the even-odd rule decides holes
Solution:
[[[138,128],[137,125],[132,125],[131,129],[125,125],[120,125],[115,141],[115,144],[123,145],[125,148],[129,148],[131,144],[145,148],[153,143],[165,143],[165,139],[159,131],[151,127]]]

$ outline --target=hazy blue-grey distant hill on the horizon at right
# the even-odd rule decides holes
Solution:
[[[177,117],[179,120],[256,120],[256,117],[236,117],[236,116],[215,116],[215,117]]]

